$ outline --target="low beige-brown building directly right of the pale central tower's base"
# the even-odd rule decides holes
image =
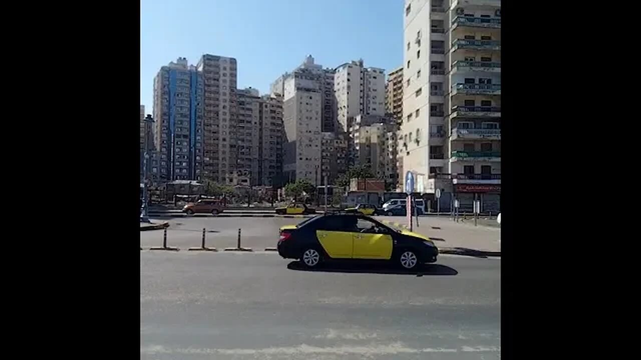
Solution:
[[[347,171],[347,142],[345,133],[322,133],[321,143],[321,176],[328,177],[328,184],[335,184],[336,179]]]

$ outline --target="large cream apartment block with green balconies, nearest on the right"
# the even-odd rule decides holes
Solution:
[[[461,211],[499,208],[501,2],[405,0],[403,168]],[[445,203],[444,203],[445,201]]]

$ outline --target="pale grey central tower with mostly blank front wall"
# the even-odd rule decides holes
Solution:
[[[273,94],[283,95],[283,176],[285,181],[307,179],[320,184],[321,131],[326,69],[307,56],[292,73],[272,83]]]

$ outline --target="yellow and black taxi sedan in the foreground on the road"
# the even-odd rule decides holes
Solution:
[[[332,259],[385,260],[406,269],[437,261],[426,236],[392,229],[365,215],[328,213],[280,229],[278,254],[315,268]]]

